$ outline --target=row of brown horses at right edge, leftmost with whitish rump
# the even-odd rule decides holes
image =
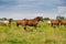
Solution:
[[[48,24],[51,26],[66,25],[66,20],[50,20]]]

